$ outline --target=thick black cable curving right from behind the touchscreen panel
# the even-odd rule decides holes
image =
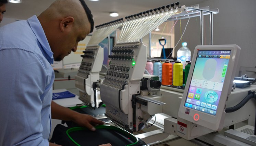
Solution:
[[[255,95],[255,91],[248,91],[248,95],[237,105],[233,106],[233,107],[228,107],[226,108],[225,112],[234,112],[236,110],[239,110],[241,107],[243,107],[250,99],[254,98],[256,100],[256,95]]]

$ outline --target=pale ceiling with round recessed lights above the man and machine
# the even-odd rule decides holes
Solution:
[[[54,0],[23,0],[22,3],[8,3],[6,6],[7,12],[4,14],[7,18],[27,19],[33,15],[39,15],[43,12]],[[179,0],[181,5],[193,5],[204,0]],[[85,0],[89,9],[94,16],[95,26],[115,19],[124,18],[125,16],[143,12],[149,9],[158,8],[175,1],[170,0],[100,0],[88,1]],[[110,12],[118,12],[118,17],[110,17]]]

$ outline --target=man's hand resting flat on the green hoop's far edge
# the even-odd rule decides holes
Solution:
[[[80,125],[80,126],[88,128],[91,131],[95,131],[95,128],[94,128],[95,125],[104,124],[104,122],[102,122],[100,120],[97,120],[97,119],[95,119],[94,117],[92,117],[90,115],[80,114],[80,113],[77,113],[74,116],[73,121],[75,123],[77,123],[78,125]],[[108,145],[106,145],[106,146],[108,146]]]

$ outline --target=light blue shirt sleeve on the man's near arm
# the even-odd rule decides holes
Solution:
[[[33,52],[0,50],[0,145],[48,146],[42,136],[44,65]]]

